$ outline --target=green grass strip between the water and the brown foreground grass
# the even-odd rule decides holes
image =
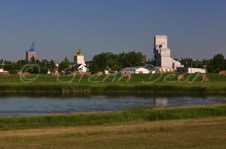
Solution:
[[[103,125],[133,121],[175,120],[226,116],[226,104],[187,108],[133,108],[121,112],[0,117],[0,130]]]

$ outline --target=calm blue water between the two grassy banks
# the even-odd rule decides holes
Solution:
[[[108,97],[49,98],[49,97],[1,97],[0,115],[54,114],[91,111],[117,111],[137,106],[170,107],[196,106],[226,102],[226,97]]]

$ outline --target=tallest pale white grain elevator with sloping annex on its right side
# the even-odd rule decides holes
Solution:
[[[176,70],[181,66],[179,61],[171,58],[171,50],[168,48],[166,35],[155,35],[154,37],[154,58],[157,67],[163,70]]]

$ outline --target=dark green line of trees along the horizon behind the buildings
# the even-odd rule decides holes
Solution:
[[[193,60],[192,58],[182,58],[179,60],[184,67],[196,67],[204,68],[209,73],[218,73],[219,71],[226,70],[226,59],[223,54],[216,54],[212,59]],[[96,73],[98,71],[120,71],[125,67],[144,66],[146,64],[153,64],[153,59],[147,59],[147,57],[141,52],[122,52],[114,54],[111,52],[100,53],[93,57],[89,62],[86,62],[87,68],[90,72]],[[35,60],[31,61],[18,60],[16,62],[0,60],[0,68],[4,68],[5,71],[9,71],[11,74],[16,74],[21,71],[24,66],[33,66],[26,71],[30,73],[42,73],[46,74],[48,71],[54,71],[57,69],[59,72],[73,72],[76,71],[74,62],[70,62],[65,57],[58,65],[53,60]],[[38,67],[36,67],[38,66]]]

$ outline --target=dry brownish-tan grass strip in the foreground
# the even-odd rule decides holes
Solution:
[[[226,147],[226,117],[1,131],[0,148]]]

